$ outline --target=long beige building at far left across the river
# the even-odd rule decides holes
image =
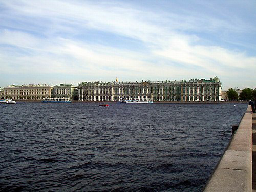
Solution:
[[[41,100],[50,98],[53,94],[53,86],[49,85],[23,85],[4,87],[4,98],[14,100]]]

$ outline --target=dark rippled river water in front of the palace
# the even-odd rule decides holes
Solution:
[[[246,107],[0,105],[0,191],[200,191]]]

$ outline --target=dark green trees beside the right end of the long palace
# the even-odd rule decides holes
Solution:
[[[236,90],[234,90],[233,88],[229,88],[227,90],[227,98],[229,100],[238,100],[238,99],[252,100],[252,99],[256,99],[256,89],[253,90],[251,88],[245,88],[241,91],[240,98],[238,98],[238,93],[236,92]]]

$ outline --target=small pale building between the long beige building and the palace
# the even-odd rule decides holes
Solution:
[[[74,100],[74,90],[76,86],[72,84],[60,84],[59,86],[54,86],[54,97],[55,98],[69,98]]]

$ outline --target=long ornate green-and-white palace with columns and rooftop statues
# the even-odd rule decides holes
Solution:
[[[188,81],[82,82],[78,84],[80,101],[118,101],[121,98],[151,98],[153,101],[219,101],[218,77]]]

